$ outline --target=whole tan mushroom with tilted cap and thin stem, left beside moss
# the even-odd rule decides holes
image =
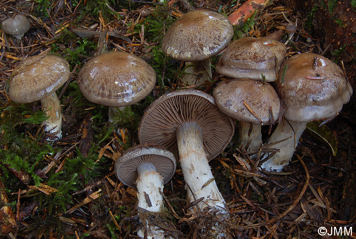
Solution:
[[[12,72],[8,96],[17,103],[30,103],[41,100],[48,119],[45,131],[50,133],[48,140],[62,138],[61,104],[55,94],[68,79],[68,62],[55,55],[35,55],[26,58]]]

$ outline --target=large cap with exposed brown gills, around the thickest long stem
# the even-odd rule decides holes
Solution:
[[[140,121],[141,143],[157,143],[179,155],[176,130],[184,123],[196,122],[202,132],[208,160],[224,151],[234,134],[233,120],[221,112],[211,95],[196,89],[167,93],[146,108]]]

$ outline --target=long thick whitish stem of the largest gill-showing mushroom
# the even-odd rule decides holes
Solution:
[[[187,190],[192,193],[188,198],[190,202],[204,198],[195,205],[198,211],[210,206],[228,215],[225,200],[216,185],[205,156],[201,134],[202,130],[195,122],[185,123],[176,131],[184,180],[188,185]]]

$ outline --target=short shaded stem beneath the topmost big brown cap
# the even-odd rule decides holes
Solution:
[[[186,62],[185,75],[182,78],[183,83],[187,85],[196,85],[212,79],[212,65],[210,58],[200,62]]]

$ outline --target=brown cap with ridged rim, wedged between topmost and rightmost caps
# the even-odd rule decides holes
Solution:
[[[216,66],[221,75],[232,78],[275,81],[284,61],[286,46],[268,38],[244,37],[233,41],[223,52]]]

